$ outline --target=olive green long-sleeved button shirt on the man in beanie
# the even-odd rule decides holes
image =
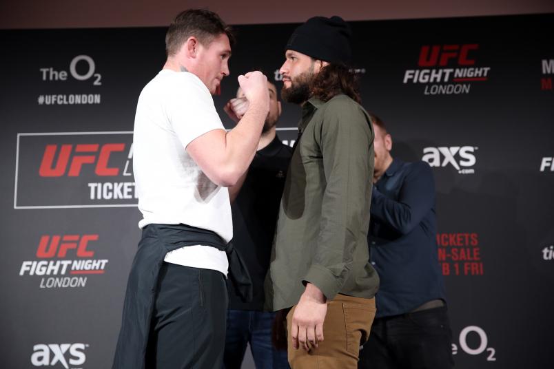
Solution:
[[[328,300],[337,293],[371,298],[379,278],[369,263],[367,231],[373,178],[373,127],[345,95],[302,106],[271,264],[266,307],[298,303],[305,284]]]

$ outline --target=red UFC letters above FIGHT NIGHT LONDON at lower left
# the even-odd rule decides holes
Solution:
[[[90,241],[98,241],[98,235],[43,235],[37,257],[65,257],[69,250],[76,250],[78,257],[94,257],[94,251],[87,250]]]

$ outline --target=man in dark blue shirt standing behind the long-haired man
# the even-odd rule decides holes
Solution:
[[[378,117],[371,116],[371,123],[375,170],[368,244],[381,283],[358,368],[452,368],[433,172],[425,162],[393,159],[391,135]]]

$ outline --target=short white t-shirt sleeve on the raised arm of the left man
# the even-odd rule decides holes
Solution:
[[[176,83],[168,96],[166,114],[183,147],[206,132],[225,129],[212,95],[196,76],[180,78]]]

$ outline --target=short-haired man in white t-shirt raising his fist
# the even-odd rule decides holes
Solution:
[[[167,61],[139,97],[134,176],[143,236],[134,258],[113,368],[218,368],[225,276],[249,276],[229,241],[231,187],[247,170],[269,112],[267,78],[238,77],[247,111],[227,132],[212,94],[229,75],[233,36],[214,12],[187,10],[165,37]]]

